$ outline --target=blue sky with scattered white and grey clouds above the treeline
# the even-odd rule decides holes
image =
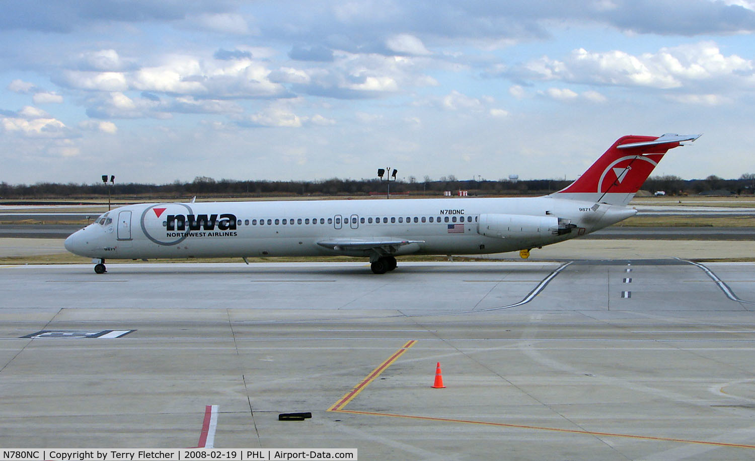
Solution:
[[[755,173],[755,0],[5,0],[0,182]]]

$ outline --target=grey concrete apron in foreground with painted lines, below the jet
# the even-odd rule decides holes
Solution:
[[[4,447],[192,447],[215,404],[215,447],[356,447],[360,459],[755,454],[755,263],[0,273]],[[430,388],[437,362],[445,389]],[[313,417],[278,421],[291,411]]]

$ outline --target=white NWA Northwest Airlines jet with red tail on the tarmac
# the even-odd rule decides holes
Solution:
[[[664,154],[701,135],[624,136],[565,189],[541,197],[130,204],[66,238],[105,260],[193,257],[369,258],[375,274],[408,254],[519,250],[587,235],[636,214],[627,205]]]

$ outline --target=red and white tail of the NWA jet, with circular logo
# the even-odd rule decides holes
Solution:
[[[699,134],[621,137],[574,183],[556,192],[556,196],[626,205],[669,149],[698,137]]]

